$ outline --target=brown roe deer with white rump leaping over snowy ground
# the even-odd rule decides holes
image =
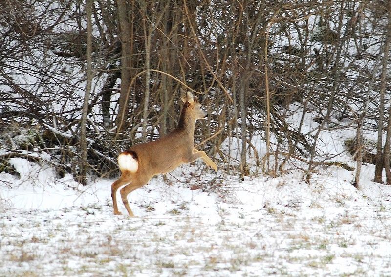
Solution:
[[[118,156],[121,177],[111,185],[114,214],[118,211],[116,192],[119,187],[122,202],[130,216],[134,216],[127,196],[133,190],[146,185],[154,175],[167,173],[179,165],[198,158],[217,172],[216,164],[205,154],[194,148],[194,128],[197,119],[205,119],[208,113],[202,110],[198,98],[191,92],[181,90],[183,108],[178,126],[166,136],[155,141],[137,144]]]

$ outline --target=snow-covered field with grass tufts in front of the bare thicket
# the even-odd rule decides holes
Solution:
[[[14,159],[20,178],[0,173],[0,276],[391,275],[391,189],[372,165],[359,191],[339,167],[306,184],[183,166],[131,193],[129,218],[113,215],[113,180],[78,186]]]

